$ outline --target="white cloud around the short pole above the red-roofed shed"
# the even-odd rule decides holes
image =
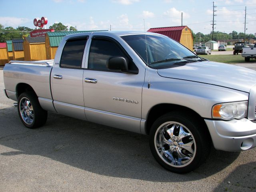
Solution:
[[[181,13],[183,16],[183,19],[190,18],[190,15],[184,11],[176,10],[176,8],[170,8],[166,12],[164,12],[164,16],[167,16],[175,25],[181,24]],[[174,25],[172,24],[172,26]]]

